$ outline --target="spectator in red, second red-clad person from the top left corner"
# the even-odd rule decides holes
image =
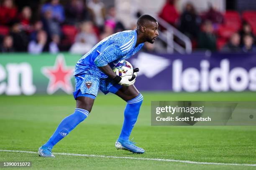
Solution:
[[[26,32],[31,32],[31,25],[30,25],[30,19],[31,19],[31,8],[28,6],[23,7],[21,14],[19,16],[20,23],[23,27],[23,30]]]

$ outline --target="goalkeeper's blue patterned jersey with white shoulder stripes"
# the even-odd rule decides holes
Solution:
[[[137,41],[136,30],[117,32],[97,43],[76,64],[74,75],[92,74],[100,78],[107,78],[98,67],[107,64],[110,67],[116,65],[120,60],[126,60],[134,55],[144,43],[135,47]]]

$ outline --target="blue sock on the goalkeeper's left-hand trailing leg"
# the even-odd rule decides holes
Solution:
[[[67,136],[69,132],[71,132],[71,130],[73,130],[88,115],[89,112],[87,110],[76,108],[72,115],[69,115],[61,121],[54,134],[43,146],[53,148],[56,143]]]

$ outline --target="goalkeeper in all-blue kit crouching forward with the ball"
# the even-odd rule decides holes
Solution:
[[[127,102],[123,128],[115,147],[132,153],[145,152],[129,140],[143,101],[143,96],[133,85],[136,72],[128,80],[116,75],[111,67],[138,52],[144,42],[154,43],[159,35],[157,29],[155,18],[142,15],[137,20],[136,30],[117,32],[106,37],[77,62],[74,69],[76,109],[72,115],[61,121],[51,138],[38,149],[39,156],[55,157],[51,153],[52,148],[89,115],[99,89],[104,94],[112,92]]]

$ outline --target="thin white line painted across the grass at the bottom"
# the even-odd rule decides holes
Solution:
[[[32,151],[23,150],[0,150],[0,152],[16,152],[16,153],[35,153]],[[172,160],[172,159],[160,159],[160,158],[133,158],[133,157],[118,157],[118,156],[105,156],[105,155],[87,155],[87,154],[77,154],[77,153],[54,153],[55,155],[69,155],[69,156],[84,156],[84,157],[96,157],[96,158],[116,158],[116,159],[132,159],[132,160],[154,160],[154,161],[164,161],[164,162],[177,162],[177,163],[191,163],[191,164],[202,164],[202,165],[234,165],[234,166],[256,166],[256,164],[238,164],[238,163],[205,163],[205,162],[195,162],[189,160]]]

